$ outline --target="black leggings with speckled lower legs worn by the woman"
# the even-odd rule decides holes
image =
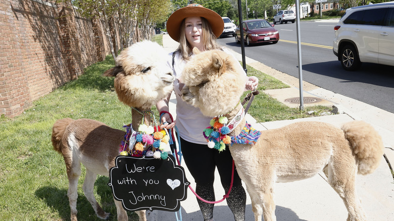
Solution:
[[[196,183],[195,192],[205,200],[215,201],[213,188],[215,179],[215,168],[218,169],[220,181],[225,192],[228,192],[231,184],[232,157],[229,147],[219,152],[214,148],[209,148],[207,144],[195,144],[180,138],[181,150],[191,176]],[[203,212],[204,220],[213,218],[214,204],[209,204],[197,199],[200,209]],[[229,197],[226,199],[227,205],[234,214],[235,220],[245,219],[246,193],[242,187],[236,169],[234,171],[233,186]]]

